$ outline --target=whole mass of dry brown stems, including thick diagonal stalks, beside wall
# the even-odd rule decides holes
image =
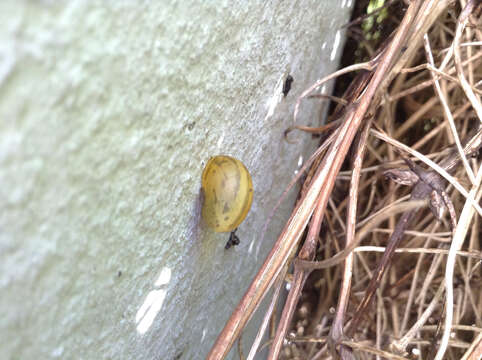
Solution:
[[[317,129],[294,127],[331,135],[322,145],[323,150],[320,148],[310,158],[311,169],[301,198],[208,359],[225,358],[263,297],[276,284],[275,295],[248,355],[248,359],[255,358],[269,319],[275,313],[285,276],[292,279],[291,290],[276,332],[271,333],[268,359],[374,356],[402,359],[407,358],[405,351],[414,346],[424,358],[441,359],[444,354],[450,354],[451,358],[457,358],[454,354],[462,356],[456,349],[468,353],[467,339],[449,341],[448,337],[452,329],[465,329],[464,318],[480,319],[474,313],[482,309],[482,302],[470,290],[473,279],[477,276],[480,279],[477,267],[480,271],[482,258],[477,241],[477,216],[482,214],[479,205],[482,170],[471,158],[482,143],[482,130],[469,131],[477,119],[480,106],[477,96],[481,93],[481,74],[476,66],[481,52],[474,54],[472,50],[482,40],[482,34],[477,28],[470,36],[464,32],[463,27],[470,22],[463,18],[463,12],[457,22],[447,15],[447,7],[453,5],[451,1],[412,0],[406,4],[398,27],[370,61],[318,80],[298,98],[295,119],[303,101],[320,100],[314,92],[324,82],[359,72],[342,101],[330,98],[339,103],[332,123]],[[452,8],[451,14],[457,9]],[[437,25],[433,26],[435,22]],[[421,59],[427,62],[417,63]],[[408,67],[419,72],[410,72]],[[414,101],[420,94],[423,99]],[[417,103],[421,107],[413,108]],[[401,116],[397,109],[404,106],[403,116],[409,124],[400,126],[396,122]],[[429,112],[438,117],[427,118]],[[433,124],[425,130],[427,121]],[[355,137],[356,146],[347,158]],[[451,147],[447,139],[455,145]],[[407,169],[394,147],[412,156],[412,162],[419,160],[421,166],[415,168],[418,170],[412,169],[415,165]],[[351,164],[351,170],[343,172],[341,177],[339,171],[345,160],[350,160],[346,163]],[[412,201],[402,200],[410,196],[402,187],[378,176],[380,169],[386,169],[388,164],[396,166],[399,174],[412,172],[411,179],[416,182],[412,184]],[[341,197],[345,193],[348,195]],[[460,214],[453,233],[447,231],[446,223],[437,223],[426,206],[422,206],[430,198],[432,211],[445,221],[443,206],[437,203],[440,197],[447,206],[453,202],[452,215]],[[358,212],[360,205],[363,208]],[[305,230],[307,236],[300,246]],[[392,233],[388,242],[387,232]],[[463,249],[469,232],[470,245]],[[453,241],[447,249],[451,234]],[[408,236],[410,242],[399,248],[402,239]],[[381,258],[377,255],[380,251],[383,251]],[[406,259],[406,264],[399,257]],[[290,264],[294,264],[293,273],[287,275]],[[384,277],[385,272],[390,276]],[[460,293],[461,285],[454,285],[454,278],[464,285],[465,293]],[[304,295],[307,287],[319,289],[322,295],[307,302],[309,296]],[[442,314],[444,291],[446,307]],[[367,311],[372,298],[377,300],[376,311]],[[311,313],[306,310],[310,307]],[[303,321],[300,316],[305,316]],[[439,331],[423,337],[426,331],[422,330],[431,321],[438,324]],[[481,325],[477,323],[477,328]],[[321,337],[328,331],[328,336]],[[309,342],[301,341],[307,338]],[[471,351],[467,359],[477,350]]]

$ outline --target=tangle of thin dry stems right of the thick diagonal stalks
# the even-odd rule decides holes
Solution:
[[[462,3],[460,8],[464,6]],[[410,189],[383,176],[387,168],[406,168],[392,146],[405,150],[406,154],[425,154],[437,164],[448,156],[446,150],[454,143],[463,154],[461,139],[474,136],[474,129],[480,126],[479,15],[467,17],[466,25],[470,26],[465,26],[462,32],[460,16],[454,18],[454,11],[456,7],[447,9],[432,26],[409,60],[409,67],[400,71],[388,89],[373,118],[373,127],[380,132],[371,130],[356,194],[349,194],[350,189],[353,192],[350,179],[354,170],[339,173],[332,201],[324,214],[325,229],[320,236],[318,259],[331,258],[345,246],[344,219],[350,196],[356,196],[361,204],[355,225],[359,229],[373,214],[386,213],[394,202],[410,194]],[[395,250],[397,255],[376,290],[374,303],[365,310],[354,338],[341,339],[330,351],[326,344],[333,332],[334,314],[340,311],[337,303],[343,273],[351,276],[344,316],[346,329],[399,220],[396,214],[390,215],[353,249],[348,264],[311,273],[280,358],[328,359],[336,355],[351,358],[343,352],[343,346],[360,359],[482,356],[481,212],[480,208],[470,206],[470,199],[480,203],[481,162],[480,156],[468,158],[464,154],[460,158],[461,164],[451,177],[458,190],[452,185],[447,188],[458,217],[454,233],[447,216],[437,221],[429,208],[420,211],[405,231],[403,248]],[[430,169],[431,165],[424,166]],[[472,195],[465,189],[472,189]],[[448,296],[447,292],[453,295]],[[449,331],[445,330],[447,324],[451,324]]]

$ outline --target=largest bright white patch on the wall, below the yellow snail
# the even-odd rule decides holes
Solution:
[[[139,334],[143,335],[149,330],[161,310],[164,299],[166,298],[166,285],[169,284],[169,281],[171,281],[171,269],[164,267],[154,283],[154,286],[162,286],[163,288],[150,291],[139,310],[137,310],[136,329]]]

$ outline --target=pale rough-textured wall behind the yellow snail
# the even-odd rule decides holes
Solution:
[[[257,241],[351,2],[0,3],[1,359],[204,358],[293,203]],[[199,223],[216,154],[255,186],[229,251]]]

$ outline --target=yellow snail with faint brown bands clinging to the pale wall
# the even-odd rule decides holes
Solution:
[[[253,181],[244,164],[231,156],[209,159],[202,174],[201,215],[215,232],[231,232],[225,248],[239,244],[235,232],[253,202]]]

